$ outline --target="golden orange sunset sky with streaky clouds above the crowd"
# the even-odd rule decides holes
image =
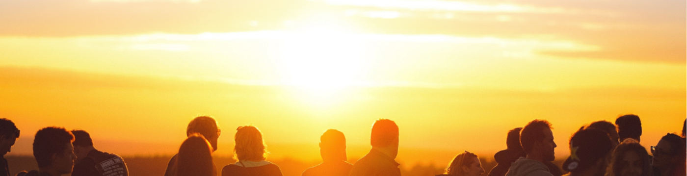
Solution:
[[[30,155],[45,126],[120,155],[171,155],[196,115],[264,133],[271,157],[348,155],[396,121],[398,160],[491,157],[508,130],[642,118],[641,144],[687,113],[686,1],[0,0],[0,118]],[[269,159],[268,159],[269,160]]]

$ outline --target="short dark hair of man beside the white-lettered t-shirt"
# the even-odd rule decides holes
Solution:
[[[74,135],[65,128],[50,126],[36,132],[34,137],[34,157],[38,168],[50,166],[53,154],[62,155],[66,145],[74,142]]]

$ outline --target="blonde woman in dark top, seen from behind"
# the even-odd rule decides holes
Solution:
[[[255,126],[238,126],[234,157],[238,162],[222,168],[222,176],[282,176],[277,164],[265,161],[267,145]]]

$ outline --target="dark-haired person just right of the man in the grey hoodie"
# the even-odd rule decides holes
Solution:
[[[600,129],[583,129],[570,138],[570,157],[563,162],[569,176],[603,176],[606,173],[606,155],[613,150],[611,138]]]

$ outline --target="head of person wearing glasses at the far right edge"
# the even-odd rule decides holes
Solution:
[[[651,146],[653,166],[663,169],[675,168],[678,164],[685,164],[685,144],[682,137],[668,133],[661,137],[656,146]]]

